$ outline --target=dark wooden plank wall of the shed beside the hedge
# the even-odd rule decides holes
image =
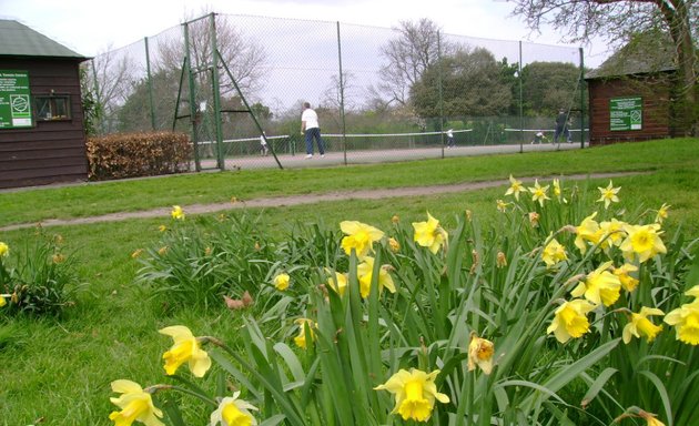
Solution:
[[[0,189],[85,181],[79,60],[0,58],[0,69],[29,71],[32,97],[53,90],[71,101],[68,121],[38,121],[34,111],[33,128],[0,129]]]

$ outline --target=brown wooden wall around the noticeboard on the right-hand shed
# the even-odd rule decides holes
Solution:
[[[670,83],[667,78],[620,78],[588,80],[590,111],[590,144],[646,141],[669,138]],[[609,100],[611,98],[642,98],[642,129],[634,131],[609,130]]]

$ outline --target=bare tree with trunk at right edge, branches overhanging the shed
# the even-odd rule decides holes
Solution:
[[[639,32],[662,31],[676,48],[678,110],[688,133],[699,134],[699,69],[695,40],[699,36],[696,0],[513,0],[514,14],[523,16],[534,30],[543,24],[567,31],[568,41],[599,36],[611,45]]]

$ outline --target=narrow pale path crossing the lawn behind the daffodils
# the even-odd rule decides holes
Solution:
[[[622,172],[622,173],[595,173],[595,174],[574,174],[565,176],[566,180],[584,180],[588,178],[594,179],[607,179],[619,178],[640,174],[637,172]],[[527,178],[533,180],[536,176]],[[538,179],[549,179],[550,176],[539,176]],[[499,181],[485,181],[485,182],[465,182],[453,185],[438,185],[438,186],[412,186],[412,187],[393,187],[393,189],[379,189],[379,190],[358,190],[358,191],[344,191],[344,192],[330,192],[325,194],[310,194],[310,195],[292,195],[292,196],[274,196],[254,199],[247,201],[240,201],[236,203],[215,203],[215,204],[190,204],[183,205],[182,209],[188,214],[202,214],[202,213],[215,213],[234,209],[252,209],[252,207],[280,207],[284,205],[300,205],[300,204],[313,204],[326,201],[343,201],[343,200],[383,200],[397,196],[418,196],[418,195],[435,195],[458,193],[467,191],[477,191],[488,187],[497,187],[508,185],[508,180]],[[89,223],[100,222],[115,222],[125,221],[130,219],[150,219],[150,217],[168,217],[170,215],[170,207],[154,209],[141,212],[123,212],[111,213],[101,216],[91,217],[78,217],[78,219],[50,219],[41,221],[41,226],[59,226],[59,225],[82,225]],[[23,223],[0,227],[0,231],[12,231],[26,227],[36,226],[37,223]]]

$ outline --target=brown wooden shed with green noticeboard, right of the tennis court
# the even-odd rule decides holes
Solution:
[[[680,134],[672,111],[675,48],[665,37],[640,36],[588,72],[590,144]]]

